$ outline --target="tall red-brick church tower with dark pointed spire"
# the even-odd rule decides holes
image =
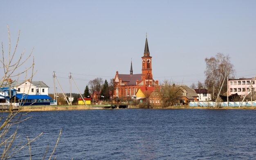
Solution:
[[[146,43],[145,43],[145,49],[144,49],[144,56],[142,58],[142,75],[141,79],[146,79],[146,80],[152,80],[153,75],[152,75],[152,57],[150,56],[149,49],[148,49],[148,39],[146,36]],[[152,82],[152,81],[151,81]],[[147,84],[146,84],[147,85]],[[150,84],[148,84],[150,85]]]

